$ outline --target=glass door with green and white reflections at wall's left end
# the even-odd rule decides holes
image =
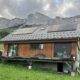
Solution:
[[[17,51],[18,51],[18,45],[16,44],[10,44],[8,47],[8,56],[17,56]]]

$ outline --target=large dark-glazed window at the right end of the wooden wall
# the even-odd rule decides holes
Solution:
[[[72,45],[70,43],[56,43],[55,44],[55,54],[56,57],[70,57],[71,56]]]

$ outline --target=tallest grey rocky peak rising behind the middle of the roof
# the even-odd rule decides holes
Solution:
[[[49,25],[49,24],[52,24],[52,22],[53,22],[52,18],[50,18],[44,14],[36,12],[34,14],[28,15],[26,24],[29,24],[29,25],[33,25],[33,24]]]

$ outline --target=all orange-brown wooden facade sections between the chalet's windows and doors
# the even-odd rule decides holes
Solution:
[[[62,43],[62,42],[61,42]],[[66,43],[66,42],[65,42]],[[67,42],[68,43],[68,42]],[[17,56],[19,57],[33,57],[37,54],[43,54],[48,58],[54,58],[55,56],[55,43],[54,42],[45,42],[41,43],[44,45],[43,49],[30,49],[30,43],[15,43],[18,45]],[[77,43],[70,42],[71,44],[71,55],[76,55]],[[10,43],[4,43],[4,53],[3,56],[7,57],[9,54],[9,45]]]

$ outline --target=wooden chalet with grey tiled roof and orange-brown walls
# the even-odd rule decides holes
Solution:
[[[54,62],[62,72],[64,64],[79,62],[80,26],[77,23],[27,27],[4,37],[3,57],[30,61]]]

